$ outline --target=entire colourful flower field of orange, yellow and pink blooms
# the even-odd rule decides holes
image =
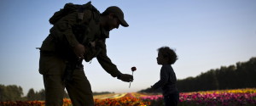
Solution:
[[[256,89],[236,89],[207,92],[181,92],[179,106],[255,106]],[[72,106],[70,99],[63,99],[63,106]],[[163,106],[161,95],[125,93],[95,99],[96,106]],[[44,106],[44,101],[0,102],[0,106]]]

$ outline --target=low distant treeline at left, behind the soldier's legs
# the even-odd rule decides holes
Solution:
[[[93,95],[100,95],[114,92],[93,92]],[[64,92],[64,98],[69,98],[66,90]],[[33,88],[29,89],[26,96],[23,94],[21,86],[9,85],[4,86],[0,84],[0,102],[5,101],[34,101],[45,100],[45,90],[41,89],[39,92],[35,92]]]

